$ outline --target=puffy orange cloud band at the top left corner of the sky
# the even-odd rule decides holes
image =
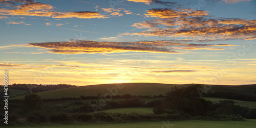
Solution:
[[[56,12],[51,5],[35,2],[13,7],[16,9],[0,9],[0,15],[42,16],[53,18],[107,18],[99,12],[91,11]]]

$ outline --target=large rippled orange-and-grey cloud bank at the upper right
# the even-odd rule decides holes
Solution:
[[[119,35],[167,36],[223,39],[254,39],[256,20],[239,18],[212,18],[203,10],[151,9],[147,17],[153,20],[134,23],[132,26],[147,31]]]

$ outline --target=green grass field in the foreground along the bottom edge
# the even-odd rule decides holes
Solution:
[[[134,123],[112,123],[112,124],[82,124],[82,125],[49,125],[49,126],[17,126],[19,128],[35,127],[35,128],[80,128],[80,127],[136,127],[136,128],[148,128],[148,127],[161,127],[161,128],[212,128],[212,127],[231,127],[231,128],[255,128],[256,120],[246,119],[246,121],[201,121],[201,120],[181,120],[181,121],[167,121],[161,122],[134,122]]]

